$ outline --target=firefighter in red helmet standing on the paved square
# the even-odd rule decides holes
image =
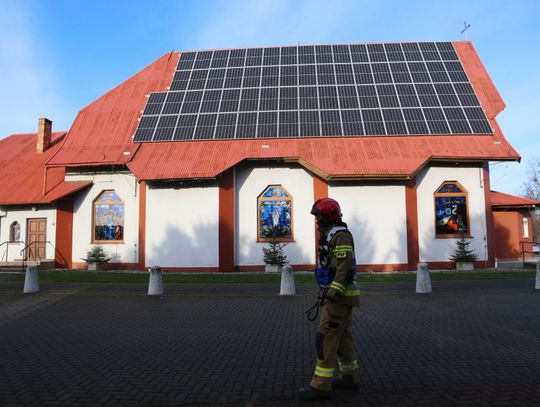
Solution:
[[[352,311],[359,306],[354,242],[341,208],[331,198],[313,204],[320,239],[315,277],[323,306],[316,336],[317,363],[308,387],[299,390],[304,400],[332,396],[332,389],[358,389],[360,378],[352,336]],[[338,362],[339,373],[334,378]]]

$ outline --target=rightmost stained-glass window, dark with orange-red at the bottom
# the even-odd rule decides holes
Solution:
[[[470,236],[468,193],[457,181],[445,181],[435,198],[435,236]]]

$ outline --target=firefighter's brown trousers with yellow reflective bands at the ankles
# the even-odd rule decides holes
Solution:
[[[331,390],[334,367],[339,357],[339,375],[352,375],[359,382],[358,362],[352,336],[351,305],[330,303],[324,306],[317,332],[317,365],[310,385]]]

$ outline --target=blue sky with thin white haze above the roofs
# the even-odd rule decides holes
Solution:
[[[492,189],[519,193],[540,156],[540,2],[0,0],[0,138],[67,130],[77,112],[169,51],[378,41],[454,41],[464,21],[507,107],[523,157],[493,163]]]

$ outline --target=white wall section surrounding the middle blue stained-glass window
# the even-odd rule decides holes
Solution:
[[[309,213],[313,205],[313,177],[298,166],[276,166],[236,168],[236,264],[264,264],[265,243],[257,243],[257,197],[270,184],[282,185],[293,198],[294,242],[285,246],[289,262],[315,263],[315,224]]]

